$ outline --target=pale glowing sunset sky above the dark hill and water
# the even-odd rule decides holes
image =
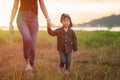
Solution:
[[[9,26],[14,0],[0,0],[0,26]],[[120,0],[44,0],[53,25],[60,25],[62,13],[68,13],[73,24],[89,22],[112,14],[120,14]],[[39,8],[39,25],[46,19]],[[16,26],[16,18],[14,19]]]

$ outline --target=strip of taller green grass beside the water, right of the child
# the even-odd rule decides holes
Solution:
[[[91,48],[120,46],[120,32],[93,31],[77,32],[78,43]]]

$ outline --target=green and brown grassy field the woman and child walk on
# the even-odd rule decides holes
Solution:
[[[76,31],[79,55],[73,53],[69,76],[58,73],[56,37],[40,31],[34,71],[25,71],[18,31],[0,31],[0,80],[120,80],[120,32]]]

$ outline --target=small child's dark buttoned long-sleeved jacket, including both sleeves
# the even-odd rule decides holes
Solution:
[[[54,31],[51,28],[47,28],[47,30],[51,36],[57,36],[58,51],[64,51],[65,53],[71,53],[72,50],[77,51],[77,37],[71,28],[67,32],[63,27]]]

